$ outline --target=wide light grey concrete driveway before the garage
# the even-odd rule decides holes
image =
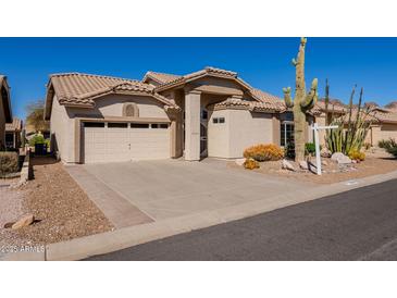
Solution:
[[[269,198],[271,201],[278,195],[294,196],[294,191],[310,187],[289,179],[231,169],[225,161],[213,159],[202,162],[163,160],[86,164],[76,169],[98,179],[154,221],[253,200]],[[76,178],[76,175],[72,176]],[[108,197],[112,200],[111,196]]]

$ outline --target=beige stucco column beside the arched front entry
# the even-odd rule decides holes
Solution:
[[[200,160],[200,98],[201,92],[185,94],[185,160]]]

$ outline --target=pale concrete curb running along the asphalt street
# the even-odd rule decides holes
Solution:
[[[299,190],[291,194],[275,196],[271,198],[271,201],[266,198],[222,209],[124,227],[113,232],[90,235],[69,241],[50,244],[46,246],[45,259],[49,261],[80,260],[96,254],[103,254],[191,232],[194,229],[258,215],[280,208],[320,199],[394,178],[397,178],[397,171],[351,182],[319,186],[309,191]],[[13,260],[17,258],[24,260],[24,254],[14,256]]]

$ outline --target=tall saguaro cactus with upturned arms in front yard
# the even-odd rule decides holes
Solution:
[[[306,92],[305,86],[305,47],[307,39],[300,39],[299,52],[297,59],[293,59],[296,69],[296,87],[295,99],[290,96],[290,87],[283,88],[285,104],[293,108],[295,125],[295,161],[305,160],[305,129],[306,112],[311,110],[318,100],[318,79],[311,83],[309,94]]]

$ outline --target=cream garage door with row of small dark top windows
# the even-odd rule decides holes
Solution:
[[[84,123],[84,162],[170,158],[169,124]]]

